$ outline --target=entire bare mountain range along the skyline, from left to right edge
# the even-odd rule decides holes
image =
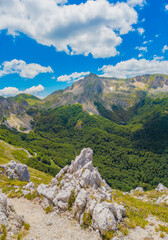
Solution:
[[[91,114],[122,122],[123,119],[119,116],[121,111],[129,111],[146,96],[165,97],[167,94],[167,75],[154,74],[117,79],[91,73],[72,86],[53,92],[43,100],[29,94],[0,97],[0,119],[9,117],[11,113],[23,114],[30,107],[51,109],[79,103]]]

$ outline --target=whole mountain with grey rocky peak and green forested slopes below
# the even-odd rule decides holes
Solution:
[[[168,186],[167,86],[165,75],[118,80],[90,74],[37,106],[24,101],[27,95],[1,98],[7,118],[0,139],[35,152],[29,166],[52,175],[91,147],[109,185],[126,191]]]

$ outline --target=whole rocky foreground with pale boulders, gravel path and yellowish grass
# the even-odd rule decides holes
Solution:
[[[0,191],[0,238],[20,239],[28,222],[25,240],[168,240],[168,188],[159,184],[149,192],[141,187],[130,193],[112,190],[92,160],[93,151],[83,149],[49,185],[37,188],[26,165],[15,161],[1,165],[2,190],[17,198],[7,201]]]

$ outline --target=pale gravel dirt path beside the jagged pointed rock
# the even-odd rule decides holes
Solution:
[[[80,225],[67,216],[45,214],[37,203],[26,199],[9,199],[18,215],[24,215],[30,224],[29,234],[24,240],[100,240],[99,234],[81,229]],[[48,225],[48,226],[47,226]]]

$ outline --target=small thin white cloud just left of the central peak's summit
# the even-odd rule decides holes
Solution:
[[[75,82],[78,81],[81,78],[84,78],[85,76],[89,75],[90,72],[74,72],[70,75],[62,75],[57,78],[58,82]]]

